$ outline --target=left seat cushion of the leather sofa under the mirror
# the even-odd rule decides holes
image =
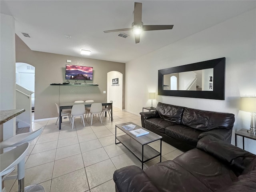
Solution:
[[[153,128],[161,133],[164,133],[166,127],[176,125],[176,123],[164,120],[162,118],[145,119],[144,122],[147,126]]]

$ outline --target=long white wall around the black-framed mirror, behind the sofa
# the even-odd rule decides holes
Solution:
[[[156,96],[154,102],[235,114],[234,144],[234,131],[250,128],[250,114],[239,111],[240,96],[256,94],[255,9],[126,63],[126,110],[139,114],[143,106],[150,106],[148,92],[158,92],[158,70],[222,57],[225,100]],[[239,138],[240,147],[241,142]],[[256,154],[254,146],[256,141],[245,139],[245,149]]]

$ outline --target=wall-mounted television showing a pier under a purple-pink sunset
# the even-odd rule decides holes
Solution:
[[[66,65],[66,80],[92,80],[93,67]]]

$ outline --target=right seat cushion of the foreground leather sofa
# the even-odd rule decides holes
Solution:
[[[197,148],[176,157],[173,161],[180,164],[212,191],[229,186],[238,180],[236,174],[227,165]]]

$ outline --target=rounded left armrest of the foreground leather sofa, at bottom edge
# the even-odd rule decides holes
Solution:
[[[113,180],[118,192],[158,192],[158,188],[138,166],[126,166],[114,172]]]

